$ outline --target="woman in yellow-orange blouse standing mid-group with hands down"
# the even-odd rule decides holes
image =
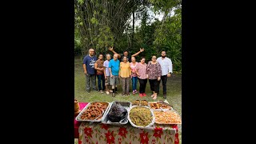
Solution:
[[[123,62],[120,62],[119,77],[122,78],[122,95],[130,95],[130,62],[126,56],[123,57]]]

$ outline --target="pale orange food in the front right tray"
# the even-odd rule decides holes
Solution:
[[[154,111],[155,123],[158,124],[181,124],[181,117],[173,110]]]

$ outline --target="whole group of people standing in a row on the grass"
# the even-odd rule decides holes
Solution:
[[[109,50],[114,53],[111,59],[110,54],[106,54],[106,61],[103,55],[95,56],[94,49],[89,50],[89,54],[83,59],[83,69],[86,74],[86,91],[90,93],[90,82],[92,89],[96,88],[96,76],[98,78],[98,91],[106,94],[112,93],[115,96],[118,91],[118,81],[122,80],[122,95],[130,95],[130,79],[132,81],[132,94],[139,93],[140,97],[146,96],[147,79],[150,82],[151,98],[156,99],[159,94],[159,85],[162,81],[163,98],[166,98],[166,82],[170,77],[173,68],[170,58],[166,58],[166,51],[162,51],[161,57],[152,56],[151,61],[146,64],[145,58],[140,58],[136,62],[136,56],[144,51],[141,48],[138,53],[129,56],[128,51],[123,55],[114,51],[113,47]],[[137,83],[139,90],[137,91]]]

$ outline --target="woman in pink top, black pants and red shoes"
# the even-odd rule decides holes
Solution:
[[[145,58],[141,58],[141,62],[139,62],[136,66],[136,74],[138,75],[138,82],[139,82],[139,96],[143,97],[146,96],[145,89],[146,89],[146,82],[147,82],[147,74],[146,74],[146,63]]]

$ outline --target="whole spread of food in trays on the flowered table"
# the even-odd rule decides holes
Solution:
[[[74,104],[75,109],[78,110],[78,101],[74,100]],[[131,104],[133,105],[132,107],[130,107]],[[154,114],[152,114],[152,112]],[[147,102],[146,100],[135,100],[131,103],[90,102],[88,106],[85,107],[80,113],[81,114],[79,114],[77,117],[78,120],[94,121],[100,120],[104,116],[104,118],[102,118],[102,122],[104,119],[106,119],[105,123],[109,124],[114,124],[114,122],[126,124],[128,122],[128,113],[129,121],[133,124],[133,126],[145,127],[149,126],[153,121],[153,123],[157,124],[182,124],[180,115],[173,110],[173,107],[170,106],[169,103],[161,101]]]

